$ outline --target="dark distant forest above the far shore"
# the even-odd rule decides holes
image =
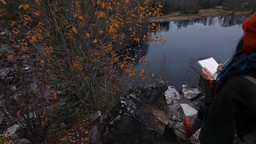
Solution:
[[[255,10],[256,0],[154,0],[161,2],[163,14],[181,12],[181,14],[198,13],[200,9],[223,8],[225,10]]]

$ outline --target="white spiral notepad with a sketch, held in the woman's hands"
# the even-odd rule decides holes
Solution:
[[[207,68],[212,74],[217,71],[217,68],[219,66],[218,62],[216,62],[216,60],[214,60],[214,58],[212,57],[199,59],[197,60],[197,63],[202,68]]]

